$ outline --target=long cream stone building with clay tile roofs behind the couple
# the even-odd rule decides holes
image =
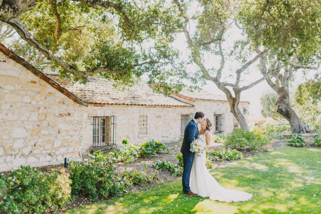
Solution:
[[[79,160],[92,147],[121,145],[120,139],[136,145],[178,141],[195,111],[222,114],[226,106],[180,94],[166,97],[146,84],[125,91],[104,79],[72,84],[40,72],[0,44],[0,171]],[[232,120],[224,127],[232,131]]]

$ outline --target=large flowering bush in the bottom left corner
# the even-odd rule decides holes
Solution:
[[[0,176],[0,209],[7,213],[42,213],[57,210],[71,201],[71,180],[61,171],[40,172],[21,166]]]

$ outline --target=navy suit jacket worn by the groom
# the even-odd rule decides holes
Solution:
[[[194,139],[197,139],[198,136],[198,127],[197,123],[194,120],[188,122],[184,131],[184,139],[181,147],[181,153],[187,156],[193,156],[194,152],[191,152],[189,149],[191,148],[191,142]]]

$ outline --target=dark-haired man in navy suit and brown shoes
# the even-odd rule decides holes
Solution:
[[[183,193],[190,195],[190,196],[196,196],[197,194],[193,193],[189,187],[189,176],[191,175],[191,169],[194,159],[194,153],[191,152],[189,149],[191,148],[191,142],[194,139],[197,139],[198,136],[198,127],[197,124],[201,123],[203,121],[204,117],[203,112],[196,112],[194,119],[188,122],[188,124],[185,127],[184,131],[184,139],[183,144],[181,148],[181,152],[183,154],[183,178],[182,178],[182,184],[183,184]]]

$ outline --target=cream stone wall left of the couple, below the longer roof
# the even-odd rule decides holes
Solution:
[[[116,143],[178,141],[180,114],[193,107],[84,107],[0,52],[0,171],[79,160],[92,145],[92,116],[116,116]],[[147,115],[147,135],[138,135]]]

